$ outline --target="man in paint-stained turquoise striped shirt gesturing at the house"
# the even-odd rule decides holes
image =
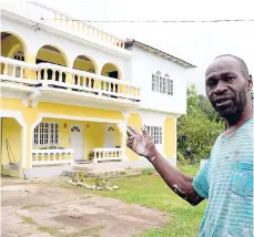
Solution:
[[[172,167],[145,131],[128,126],[128,147],[146,157],[174,193],[191,205],[207,198],[199,236],[253,236],[252,86],[247,66],[237,56],[217,56],[207,68],[206,95],[227,128],[194,178]]]

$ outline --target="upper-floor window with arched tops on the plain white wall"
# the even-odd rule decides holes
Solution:
[[[152,74],[152,91],[173,95],[173,80],[167,74],[162,76],[161,72],[158,71],[156,74]]]

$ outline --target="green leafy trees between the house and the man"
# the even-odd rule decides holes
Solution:
[[[191,85],[187,89],[187,114],[177,123],[177,159],[195,164],[201,158],[209,158],[213,143],[224,130],[224,121],[209,100],[197,95],[195,86]]]

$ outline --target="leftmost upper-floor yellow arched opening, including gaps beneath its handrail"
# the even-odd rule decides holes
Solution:
[[[1,56],[26,61],[27,45],[24,41],[18,34],[12,32],[1,32]],[[6,65],[1,64],[1,74],[4,72],[4,66]],[[16,66],[13,72],[13,66],[9,64],[6,73],[8,75],[12,75],[12,73],[14,73],[16,76],[20,76],[21,69],[20,66]]]

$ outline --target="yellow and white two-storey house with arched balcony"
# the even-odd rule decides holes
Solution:
[[[191,63],[23,1],[2,4],[0,61],[2,174],[148,166],[126,148],[126,124],[146,125],[175,165]]]

